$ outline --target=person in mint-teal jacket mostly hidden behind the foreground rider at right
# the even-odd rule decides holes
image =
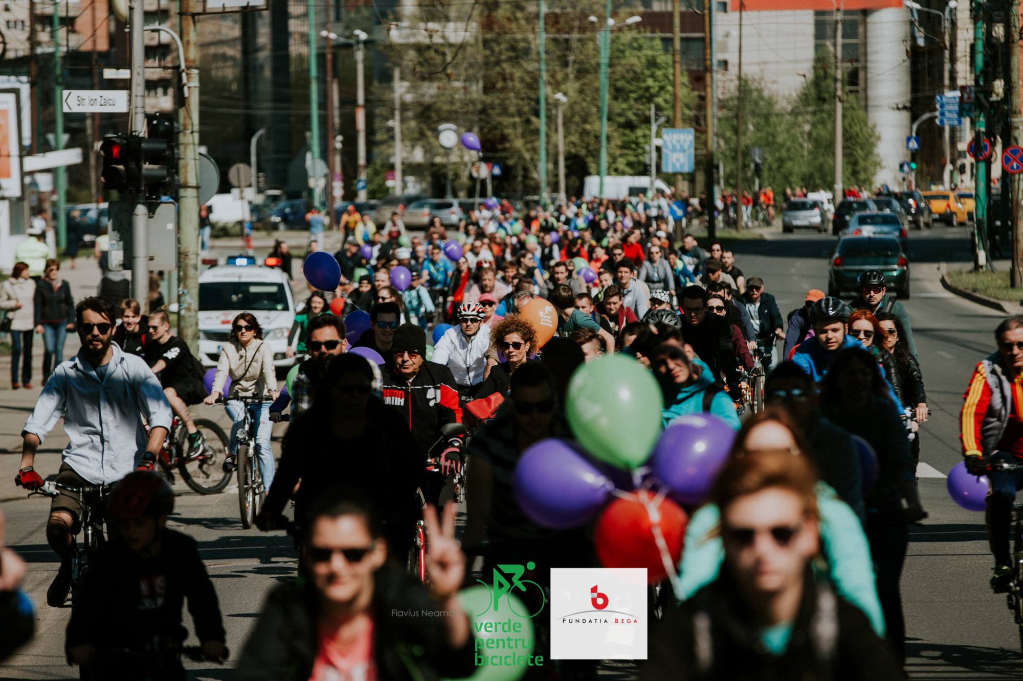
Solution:
[[[795,456],[808,452],[807,445],[785,423],[772,418],[751,419],[736,437],[730,456],[756,456],[757,451],[787,450]],[[878,636],[885,635],[885,619],[871,562],[871,547],[859,518],[839,499],[827,483],[817,483],[817,512],[820,515],[820,553],[824,571],[835,590],[866,615]],[[724,548],[716,530],[720,513],[706,504],[693,513],[685,528],[682,561],[679,565],[682,600],[717,579]]]

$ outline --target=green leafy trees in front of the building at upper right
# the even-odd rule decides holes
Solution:
[[[792,99],[783,104],[763,84],[743,79],[743,186],[753,187],[749,149],[763,148],[761,185],[775,194],[785,187],[830,189],[835,184],[835,81],[827,52],[818,54],[813,73]],[[718,107],[718,154],[724,185],[736,183],[735,93]],[[878,133],[858,98],[846,91],[842,106],[843,186],[871,186],[880,170]]]

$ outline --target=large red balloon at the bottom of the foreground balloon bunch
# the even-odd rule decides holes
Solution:
[[[640,501],[640,494],[651,501],[655,496],[649,491],[633,492],[628,495],[629,498],[619,497],[604,509],[594,532],[596,556],[605,568],[646,568],[647,581],[657,584],[668,574],[664,570],[650,514]],[[671,564],[677,565],[682,555],[688,517],[678,504],[667,498],[661,501],[657,510],[661,516],[658,525],[668,545]]]

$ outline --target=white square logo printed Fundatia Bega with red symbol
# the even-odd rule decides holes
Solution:
[[[551,660],[647,660],[646,568],[552,568]]]

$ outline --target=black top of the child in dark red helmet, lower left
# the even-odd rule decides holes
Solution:
[[[217,592],[187,535],[163,531],[163,547],[140,558],[120,541],[109,541],[91,561],[68,624],[66,649],[91,644],[143,651],[154,638],[180,645],[185,597],[199,641],[223,641]]]

